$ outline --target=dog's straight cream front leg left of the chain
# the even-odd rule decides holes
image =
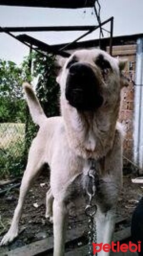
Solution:
[[[54,256],[64,256],[65,233],[67,227],[67,207],[64,201],[53,201]]]

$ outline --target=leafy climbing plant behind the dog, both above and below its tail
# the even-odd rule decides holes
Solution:
[[[36,95],[42,105],[46,116],[59,115],[59,85],[56,83],[55,76],[55,56],[48,55],[47,58],[37,52],[32,53],[24,61],[23,67],[27,70],[27,63],[33,61],[33,76],[39,76],[39,81],[36,86]],[[28,75],[28,72],[25,72]],[[29,77],[30,79],[30,77]],[[31,79],[30,79],[31,80]],[[31,117],[28,118],[28,131],[27,131],[27,148],[31,144],[31,140],[35,137],[38,127],[34,125]]]

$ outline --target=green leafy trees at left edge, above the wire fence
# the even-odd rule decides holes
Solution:
[[[25,122],[22,68],[0,59],[0,122]]]

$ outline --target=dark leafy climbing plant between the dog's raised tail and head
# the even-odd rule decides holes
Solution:
[[[56,83],[55,56],[34,52],[34,76],[39,75],[39,82],[36,87],[36,94],[46,116],[59,115],[59,85]]]

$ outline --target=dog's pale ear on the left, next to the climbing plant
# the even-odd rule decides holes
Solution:
[[[64,66],[66,61],[67,61],[67,58],[56,55],[55,73],[56,73],[56,81],[57,81],[58,84],[59,84],[59,80],[60,80],[60,74],[61,74],[61,71],[62,71],[62,67]]]

